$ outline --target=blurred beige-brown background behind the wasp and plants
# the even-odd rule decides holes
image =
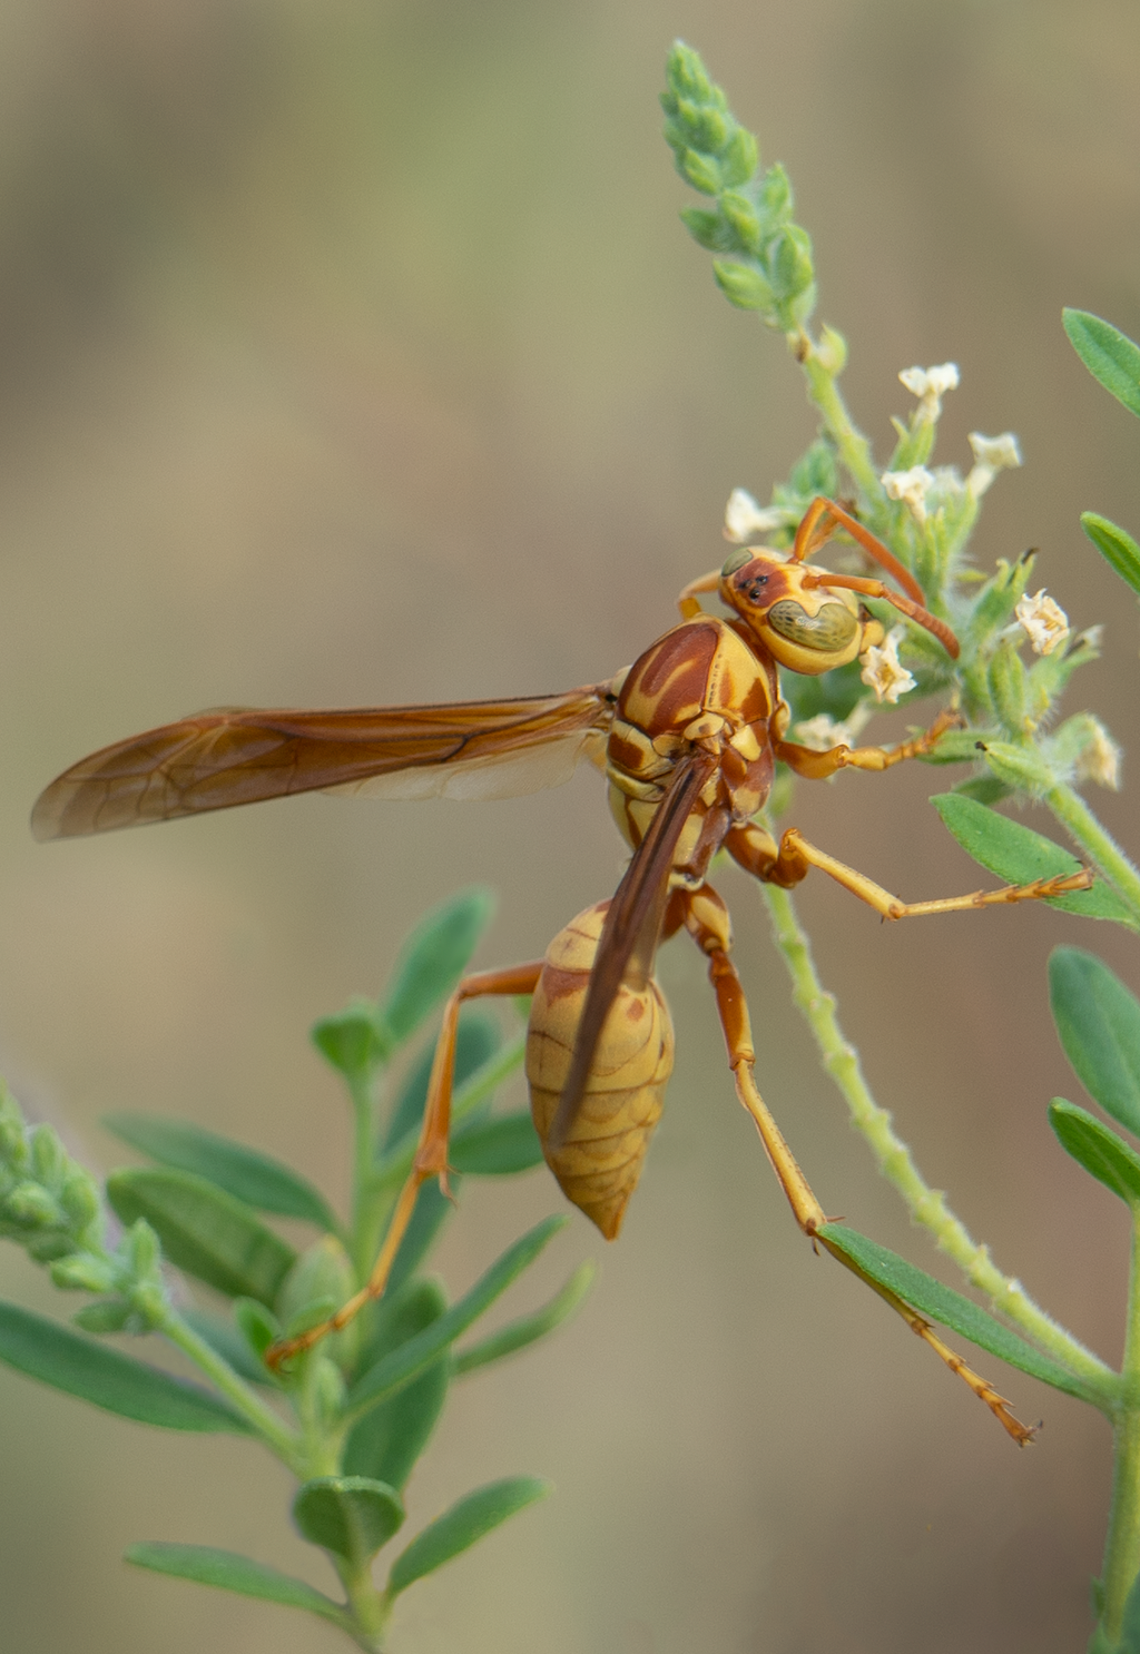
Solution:
[[[1137,749],[1137,615],[1077,516],[1137,533],[1140,432],[1061,331],[1066,303],[1140,331],[1128,0],[7,0],[0,1065],[91,1164],[121,1153],[99,1116],[146,1108],[342,1199],[347,1121],[309,1024],[376,992],[463,883],[500,896],[488,966],[616,885],[592,772],[508,804],[298,799],[46,847],[26,814],[84,753],[202,706],[553,691],[672,624],[723,557],[728,491],[766,500],[814,432],[783,342],[730,309],[677,220],[693,197],[657,108],[675,35],[791,170],[880,458],[912,364],[961,367],[943,463],[970,461],[968,430],[1019,433],[978,557],[1039,546],[1074,624],[1109,622],[1069,710]],[[925,804],[948,779],[801,784],[793,819],[907,898],[970,890]],[[1094,802],[1135,850],[1130,796]],[[953,1280],[847,1130],[758,893],[723,888],[759,1083],[824,1206]],[[1049,911],[884,928],[826,880],[801,911],[930,1181],[1115,1361],[1127,1219],[1046,1123],[1082,1093],[1044,966],[1066,939],[1140,987],[1135,949]],[[576,1219],[508,1300],[601,1259],[558,1340],[457,1389],[412,1522],[503,1474],[558,1495],[409,1593],[394,1647],[1082,1646],[1102,1419],[980,1358],[1044,1416],[1018,1454],[812,1255],[733,1102],[700,959],[682,941],[660,969],[678,1068],[625,1232],[606,1247]],[[558,1206],[544,1173],[468,1183],[450,1288]],[[71,1308],[13,1249],[0,1277]],[[5,1370],[0,1452],[7,1654],[341,1646],[119,1561],[137,1538],[228,1545],[328,1588],[253,1446],[147,1432]]]

